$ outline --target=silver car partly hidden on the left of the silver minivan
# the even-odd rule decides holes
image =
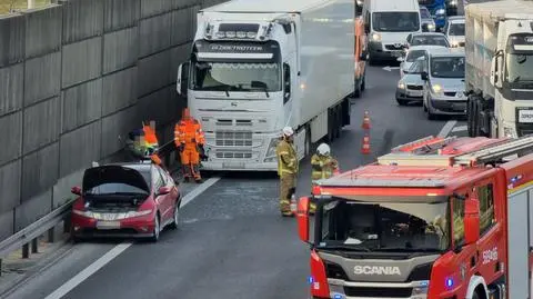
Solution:
[[[426,69],[426,58],[419,57],[405,72],[405,74],[398,81],[396,86],[396,102],[400,106],[405,106],[409,102],[422,102],[424,96],[424,81],[420,74]]]

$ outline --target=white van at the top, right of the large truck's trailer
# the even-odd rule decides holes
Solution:
[[[364,0],[370,63],[403,54],[410,33],[422,32],[419,0]]]

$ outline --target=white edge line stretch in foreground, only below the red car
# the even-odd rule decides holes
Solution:
[[[114,258],[117,258],[120,253],[122,253],[125,249],[128,249],[131,243],[120,243],[115,246],[113,249],[109,250],[105,255],[99,258],[97,261],[91,263],[83,271],[79,272],[77,276],[71,278],[67,281],[63,286],[59,287],[54,292],[47,296],[44,299],[59,299],[69,293],[76,287],[78,287],[81,282],[88,279],[90,276],[100,270],[103,266],[108,265]]]

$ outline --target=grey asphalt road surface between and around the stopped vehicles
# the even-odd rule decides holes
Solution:
[[[366,91],[353,100],[352,126],[331,144],[342,170],[416,138],[465,134],[463,121],[429,121],[420,106],[399,107],[399,71],[383,67],[368,70]],[[365,110],[372,121],[370,157],[360,153]],[[183,207],[181,229],[164,231],[160,242],[72,246],[8,298],[308,298],[309,248],[299,240],[295,220],[279,216],[276,178],[223,176],[200,188]],[[299,193],[309,189],[306,159]]]

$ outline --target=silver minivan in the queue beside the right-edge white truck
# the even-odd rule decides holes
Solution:
[[[428,119],[434,119],[436,114],[466,113],[464,64],[463,49],[430,53],[428,70],[420,74],[424,80],[423,107]]]

